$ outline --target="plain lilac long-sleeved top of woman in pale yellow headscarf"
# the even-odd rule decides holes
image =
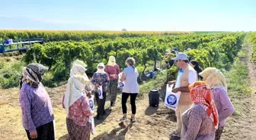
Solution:
[[[212,92],[213,100],[219,114],[219,126],[225,126],[226,118],[234,113],[235,108],[233,107],[232,102],[224,89],[216,88],[212,89]]]

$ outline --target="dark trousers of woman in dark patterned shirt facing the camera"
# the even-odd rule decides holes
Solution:
[[[94,92],[94,95],[95,95],[95,98],[96,98],[96,102],[97,102],[97,105],[98,105],[98,108],[97,108],[97,114],[99,116],[103,116],[105,114],[105,102],[106,102],[106,95],[107,95],[107,92],[103,92],[102,95],[103,95],[103,98],[100,99],[98,97],[98,92]]]

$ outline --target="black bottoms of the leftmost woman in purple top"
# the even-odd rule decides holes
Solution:
[[[27,138],[29,140],[54,140],[54,126],[53,122],[46,123],[43,126],[37,127],[37,138],[30,138],[30,132],[27,131]]]

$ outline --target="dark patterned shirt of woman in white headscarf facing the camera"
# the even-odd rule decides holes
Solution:
[[[110,79],[107,73],[94,73],[91,80],[91,83],[94,84],[94,86],[96,84],[99,84],[100,86],[102,86],[103,92],[107,92],[107,85],[109,82],[110,82]],[[98,92],[98,89],[96,86],[94,88],[94,92]]]

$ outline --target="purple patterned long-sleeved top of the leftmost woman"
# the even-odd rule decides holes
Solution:
[[[50,97],[41,83],[37,89],[24,84],[20,91],[20,104],[24,129],[30,132],[54,120]]]

